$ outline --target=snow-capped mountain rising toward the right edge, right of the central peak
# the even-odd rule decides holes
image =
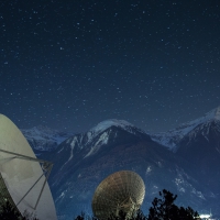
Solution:
[[[220,195],[220,107],[152,139],[186,160],[188,167],[196,170],[195,179],[211,189],[213,197]],[[219,210],[219,205],[210,206]]]

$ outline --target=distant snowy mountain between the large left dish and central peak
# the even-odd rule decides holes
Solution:
[[[21,132],[36,154],[45,151],[54,151],[58,144],[73,135],[68,132],[52,130],[42,125],[32,129],[23,129]]]

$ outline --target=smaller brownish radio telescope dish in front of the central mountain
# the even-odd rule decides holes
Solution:
[[[130,218],[141,207],[145,195],[144,182],[140,175],[131,170],[111,174],[97,187],[91,207],[95,217],[108,219],[119,211]]]

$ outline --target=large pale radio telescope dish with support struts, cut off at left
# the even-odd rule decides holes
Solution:
[[[56,220],[47,185],[52,166],[37,160],[21,131],[0,114],[0,205],[8,200],[21,215],[28,211],[40,220]]]

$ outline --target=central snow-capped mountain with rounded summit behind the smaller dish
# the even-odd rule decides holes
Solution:
[[[90,212],[98,184],[121,169],[135,170],[144,179],[145,211],[163,188],[178,194],[182,205],[194,208],[206,206],[212,195],[194,178],[188,162],[125,121],[107,120],[86,133],[75,134],[46,158],[54,162],[50,184],[57,213],[67,220],[81,211]]]

